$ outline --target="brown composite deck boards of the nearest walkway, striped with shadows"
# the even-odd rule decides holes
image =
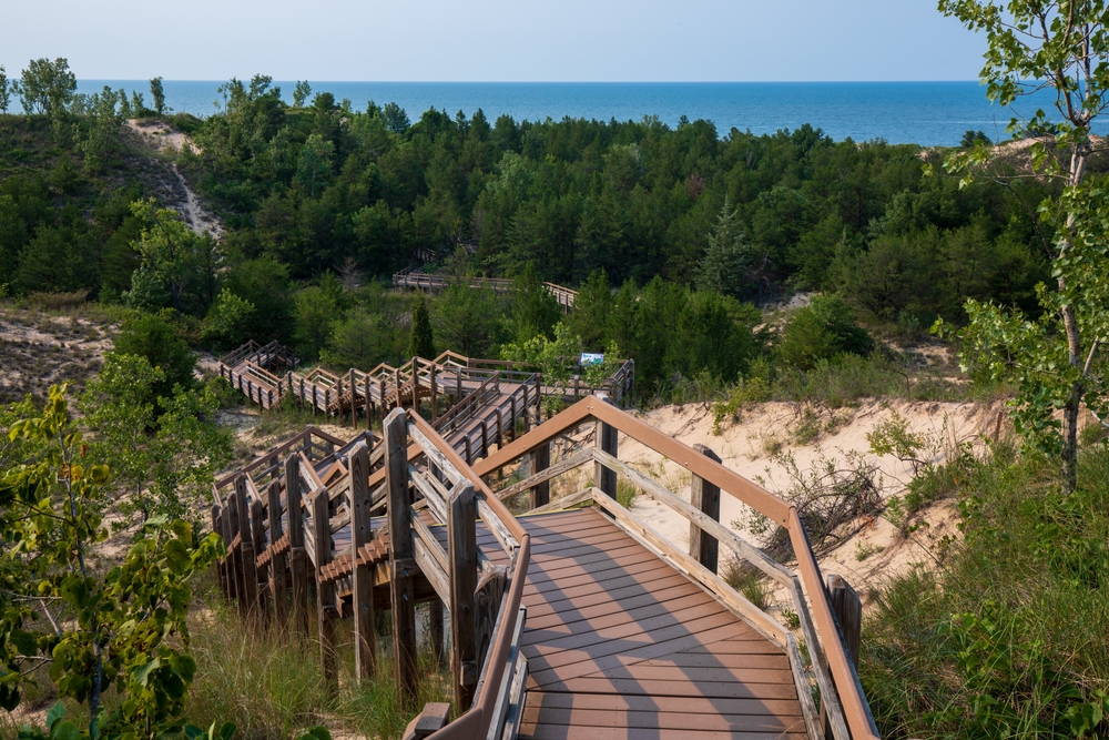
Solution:
[[[531,535],[521,738],[807,734],[785,652],[599,510],[519,520]],[[484,528],[478,545],[506,559]]]

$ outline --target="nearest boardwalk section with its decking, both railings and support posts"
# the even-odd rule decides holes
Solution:
[[[445,414],[444,428],[457,432],[462,416]],[[552,459],[552,440],[568,435],[593,446]],[[686,501],[620,459],[622,439],[688,469],[699,495]],[[333,689],[335,621],[353,620],[355,679],[365,680],[378,661],[375,615],[390,611],[394,670],[413,696],[417,605],[434,607],[433,642],[446,608],[455,719],[429,704],[406,738],[876,738],[853,663],[857,637],[847,632],[848,650],[841,632],[857,625],[857,598],[836,577],[830,597],[786,501],[602,396],[477,456],[400,408],[380,438],[339,443],[306,429],[217,481],[224,594],[246,619],[305,633],[315,608]],[[509,483],[492,490],[487,480],[506,469]],[[549,500],[554,478],[582,470],[592,485]],[[615,501],[619,479],[690,523],[688,550]],[[787,529],[796,571],[719,523],[721,495]],[[515,517],[506,500],[532,515]],[[586,505],[594,508],[569,510]],[[718,575],[721,551],[785,587],[796,635]]]

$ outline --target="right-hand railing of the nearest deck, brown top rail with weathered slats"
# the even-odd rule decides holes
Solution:
[[[594,426],[596,446],[551,465],[550,443],[560,436],[573,435],[583,426]],[[685,501],[637,467],[619,459],[621,435],[688,470],[692,476],[692,500]],[[548,450],[543,464],[535,466],[532,474],[525,479],[497,491],[499,498],[508,499],[530,490],[530,507],[536,511],[589,501],[599,506],[648,549],[698,582],[787,652],[810,736],[823,738],[824,724],[812,699],[808,675],[802,663],[796,638],[790,629],[751,604],[718,575],[718,549],[723,545],[736,558],[749,562],[785,588],[792,598],[798,615],[801,636],[808,648],[813,672],[820,687],[821,710],[835,740],[869,740],[877,737],[820,566],[810,547],[804,525],[792,505],[725,468],[714,455],[679,443],[619,410],[600,395],[579,402],[486,459],[475,463],[474,469],[487,478],[501,468],[516,465],[526,456],[535,457],[539,450]],[[552,478],[580,467],[592,467],[592,486],[553,503],[548,503],[546,496],[537,495],[542,487],[549,486]],[[618,477],[624,478],[641,493],[689,520],[689,551],[675,547],[653,527],[617,503]],[[746,504],[788,531],[797,558],[795,572],[720,524],[721,493]]]

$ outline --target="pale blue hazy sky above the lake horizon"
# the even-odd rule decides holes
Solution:
[[[0,64],[85,79],[971,80],[936,0],[3,0]]]

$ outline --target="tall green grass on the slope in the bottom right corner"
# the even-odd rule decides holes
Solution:
[[[998,446],[958,491],[964,539],[874,596],[859,671],[883,737],[1109,736],[1109,449],[1080,485]]]

